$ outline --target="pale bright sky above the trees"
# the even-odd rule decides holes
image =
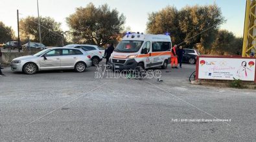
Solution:
[[[186,5],[211,5],[216,3],[222,10],[226,23],[220,29],[233,32],[242,37],[246,0],[38,0],[40,15],[53,17],[62,23],[64,31],[69,30],[65,18],[75,13],[76,8],[89,3],[95,6],[107,3],[111,9],[116,8],[126,17],[125,26],[132,32],[145,32],[148,14],[157,12],[166,6],[176,6],[178,10]],[[12,26],[17,35],[17,9],[19,19],[29,15],[37,16],[36,0],[0,0],[0,21]],[[160,33],[159,33],[160,34]]]

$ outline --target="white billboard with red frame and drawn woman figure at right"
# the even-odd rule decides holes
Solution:
[[[199,57],[198,79],[255,81],[255,58]]]

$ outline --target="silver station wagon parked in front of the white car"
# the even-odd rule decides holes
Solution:
[[[91,56],[80,48],[48,48],[33,56],[17,57],[10,66],[15,72],[35,74],[40,70],[67,70],[84,72],[91,66]]]

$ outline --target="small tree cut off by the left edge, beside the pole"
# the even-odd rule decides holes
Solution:
[[[14,39],[14,30],[12,30],[12,27],[5,26],[5,24],[0,21],[0,43],[12,41],[13,39]]]

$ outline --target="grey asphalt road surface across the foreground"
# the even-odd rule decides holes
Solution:
[[[190,85],[194,65],[161,70],[163,82],[95,79],[95,70],[29,76],[5,68],[6,76],[0,77],[0,141],[256,139],[255,90]]]

